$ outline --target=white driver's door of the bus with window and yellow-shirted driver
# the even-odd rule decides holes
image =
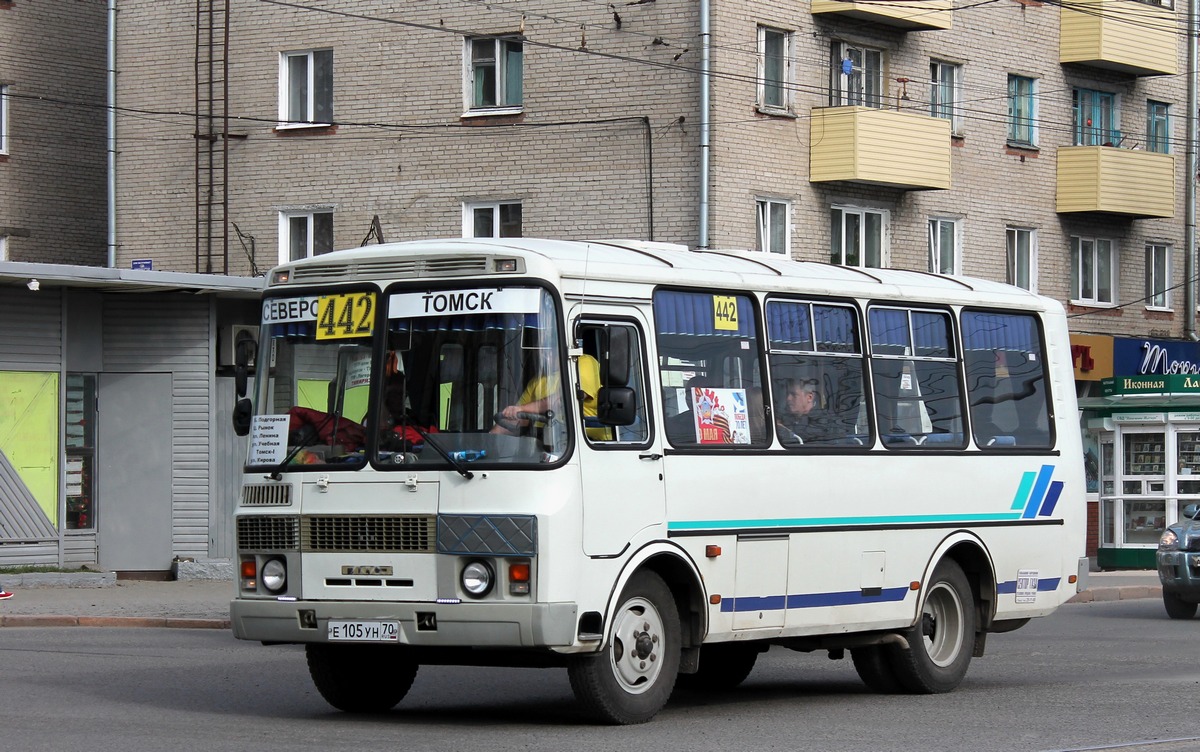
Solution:
[[[583,553],[589,557],[620,553],[666,515],[661,432],[653,431],[647,405],[644,321],[636,308],[611,313],[576,319],[574,326],[575,344],[583,350],[572,386],[583,395],[580,465]],[[623,425],[601,422],[614,414],[623,415]]]

